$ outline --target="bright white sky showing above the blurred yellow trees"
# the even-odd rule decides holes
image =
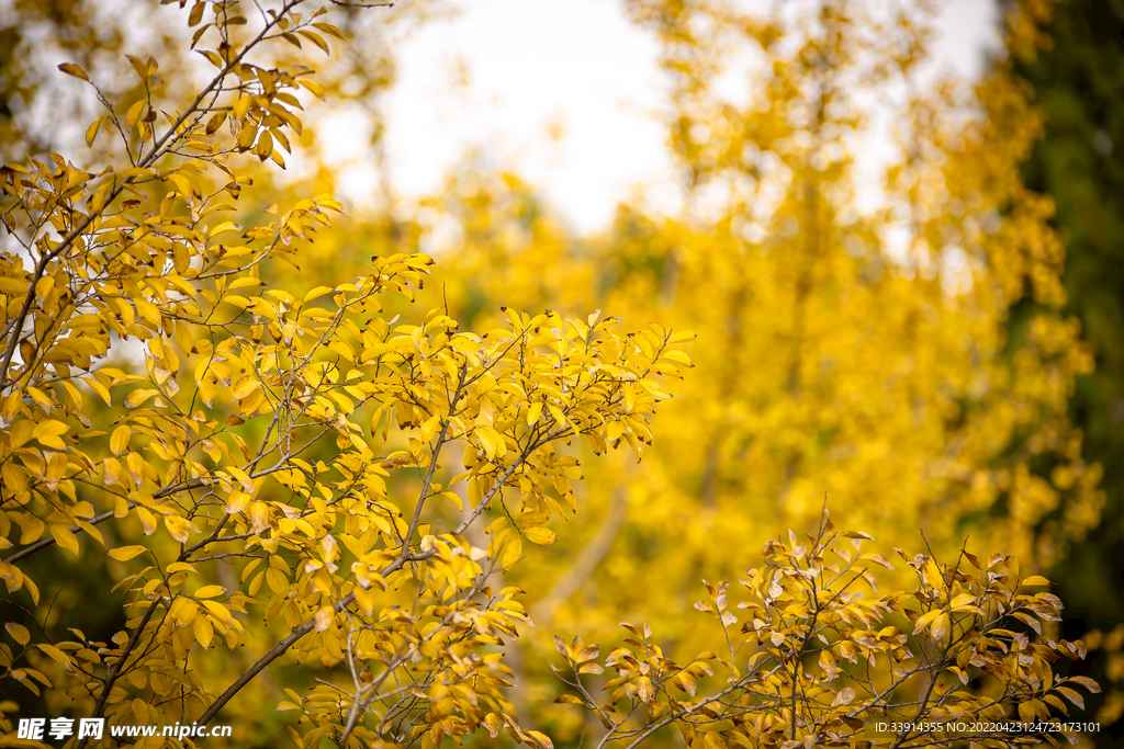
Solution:
[[[423,25],[400,48],[386,104],[392,184],[407,198],[436,192],[471,149],[515,168],[581,234],[608,225],[644,185],[656,204],[674,194],[656,118],[658,47],[620,0],[451,0],[451,18]],[[936,66],[978,75],[998,44],[994,0],[945,0]],[[335,124],[329,161],[356,153],[360,124]],[[552,133],[561,134],[551,138]],[[344,181],[362,200],[355,164]]]

